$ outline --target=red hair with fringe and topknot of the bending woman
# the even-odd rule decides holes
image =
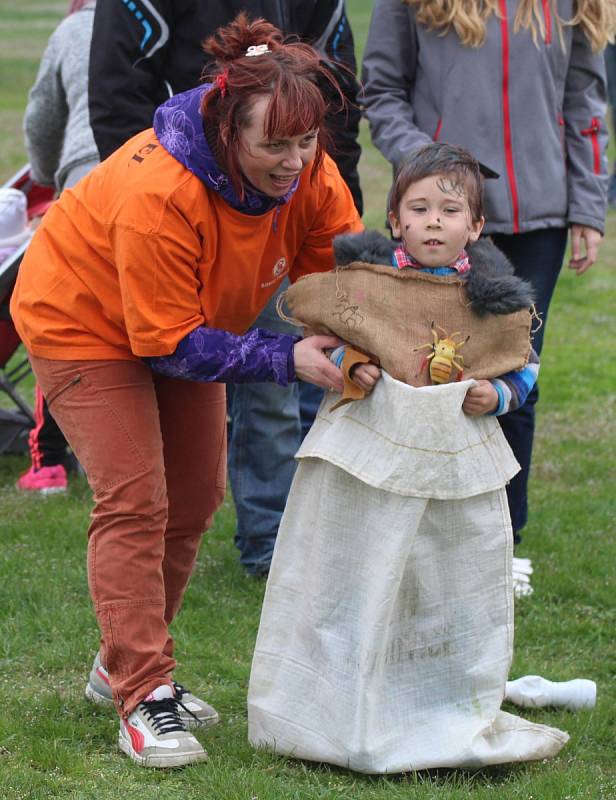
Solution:
[[[253,45],[267,45],[270,52],[247,56]],[[328,144],[324,117],[328,103],[319,81],[329,83],[343,102],[342,93],[318,52],[301,42],[285,42],[282,33],[264,19],[251,22],[242,12],[214,36],[204,50],[216,59],[209,73],[213,86],[201,101],[201,114],[210,130],[216,131],[217,154],[234,189],[244,194],[242,172],[237,157],[240,130],[250,123],[252,103],[269,95],[265,117],[268,138],[299,136],[319,130],[317,151],[312,165],[314,176]]]

